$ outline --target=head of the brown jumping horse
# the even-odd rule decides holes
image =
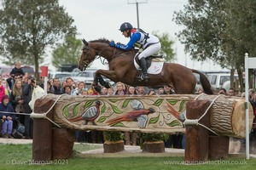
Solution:
[[[95,59],[96,52],[93,48],[90,48],[90,43],[82,40],[84,47],[82,48],[83,53],[79,59],[79,70],[84,71],[88,65]]]

